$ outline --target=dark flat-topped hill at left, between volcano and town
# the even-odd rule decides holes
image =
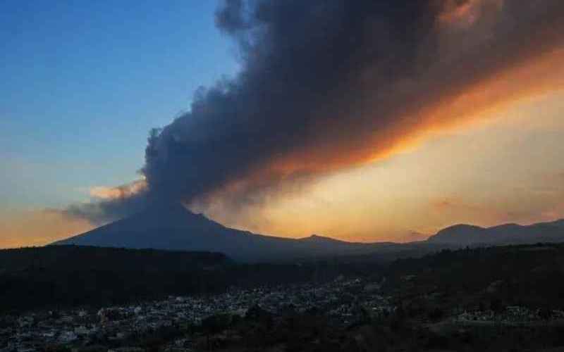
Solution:
[[[223,289],[221,253],[47,246],[0,251],[0,311],[104,305]]]

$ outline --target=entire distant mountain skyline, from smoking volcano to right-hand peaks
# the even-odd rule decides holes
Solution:
[[[52,245],[211,251],[243,262],[270,262],[327,256],[374,255],[381,258],[422,256],[463,246],[564,241],[564,220],[494,227],[457,224],[424,241],[349,242],[312,234],[292,239],[236,230],[190,212],[180,203],[158,204],[107,225],[56,241]]]

